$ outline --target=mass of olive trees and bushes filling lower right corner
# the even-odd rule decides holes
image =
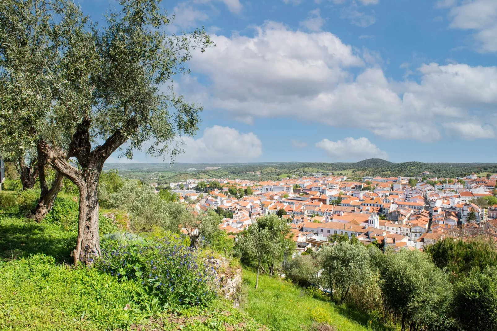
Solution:
[[[336,305],[401,330],[495,330],[495,242],[446,238],[427,253],[393,252],[343,237],[285,264],[285,275],[307,288],[321,286]],[[469,303],[481,311],[471,315]]]

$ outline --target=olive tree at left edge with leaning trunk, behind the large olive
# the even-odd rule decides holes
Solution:
[[[40,199],[30,217],[40,221],[62,187],[56,174],[49,189],[46,160],[36,148],[44,113],[54,107],[53,77],[60,37],[77,7],[65,0],[4,0],[0,3],[0,146],[16,164],[24,189],[40,180]],[[43,127],[47,132],[50,123]],[[59,141],[59,131],[50,134]]]

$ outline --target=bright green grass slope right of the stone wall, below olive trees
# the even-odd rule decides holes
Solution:
[[[255,289],[255,273],[244,269],[244,284],[248,298],[242,308],[255,321],[272,331],[312,330],[313,323],[327,323],[338,331],[383,330],[367,327],[367,318],[316,298],[294,284],[279,278],[259,276]]]

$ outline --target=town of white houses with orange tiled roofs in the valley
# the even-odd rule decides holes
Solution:
[[[364,244],[423,249],[444,237],[497,237],[497,175],[459,178],[364,177],[312,174],[278,181],[189,179],[170,183],[181,201],[223,215],[231,238],[260,216],[277,214],[291,226],[297,252],[332,245],[333,235]],[[150,184],[159,192],[158,185]],[[482,204],[482,202],[484,202]],[[233,215],[233,216],[231,216]]]

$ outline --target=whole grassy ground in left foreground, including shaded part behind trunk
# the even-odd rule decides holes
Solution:
[[[75,227],[57,220],[36,223],[1,207],[2,331],[100,331],[137,326],[173,331],[178,325],[189,331],[255,331],[261,327],[224,300],[183,309],[176,315],[151,314],[139,297],[141,283],[118,281],[96,268],[64,263],[71,261],[69,254],[76,246]],[[103,228],[115,231],[110,224]],[[125,310],[126,305],[129,309]]]

